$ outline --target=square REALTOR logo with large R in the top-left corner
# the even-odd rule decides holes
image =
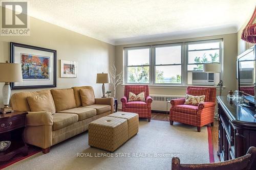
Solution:
[[[2,1],[1,6],[0,35],[30,35],[28,27],[28,3],[19,1]]]

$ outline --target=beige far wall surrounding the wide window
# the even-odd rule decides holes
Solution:
[[[223,38],[223,83],[226,87],[222,95],[226,95],[228,91],[236,89],[236,58],[237,58],[237,34],[225,34],[218,36],[200,37],[200,38],[190,38],[190,39],[180,39],[171,41],[160,41],[160,42],[150,42],[150,43],[139,43],[139,44],[127,44],[127,45],[117,45],[116,46],[116,67],[118,72],[123,69],[123,48],[130,46],[140,46],[140,45],[153,45],[153,44],[163,44],[163,43],[175,43],[175,42],[185,42],[185,41],[196,41],[196,40],[207,40],[207,39],[218,39]],[[174,95],[184,95],[185,87],[154,87],[150,86],[151,94],[174,94]],[[123,96],[124,87],[119,85],[117,88],[117,98],[120,100]],[[218,91],[217,91],[218,92]],[[218,93],[217,93],[218,94]],[[119,105],[120,107],[120,105]]]

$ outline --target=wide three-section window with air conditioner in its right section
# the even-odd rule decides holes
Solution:
[[[222,39],[127,47],[124,48],[124,81],[187,85],[211,80],[212,84],[214,74],[202,72],[203,66],[221,63],[221,57]],[[198,80],[194,81],[193,77]]]

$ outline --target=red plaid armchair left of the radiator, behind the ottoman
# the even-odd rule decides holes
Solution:
[[[129,99],[129,92],[133,92],[136,95],[141,92],[145,92],[145,102],[141,102],[141,101],[127,102]],[[152,98],[149,95],[150,93],[147,85],[124,86],[124,96],[121,99],[122,111],[138,113],[139,117],[147,118],[148,122],[150,122]]]

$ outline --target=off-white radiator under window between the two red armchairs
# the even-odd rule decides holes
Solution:
[[[184,98],[184,95],[150,94],[150,96],[153,99],[151,110],[164,112],[170,110],[170,103],[167,104],[167,99]]]

